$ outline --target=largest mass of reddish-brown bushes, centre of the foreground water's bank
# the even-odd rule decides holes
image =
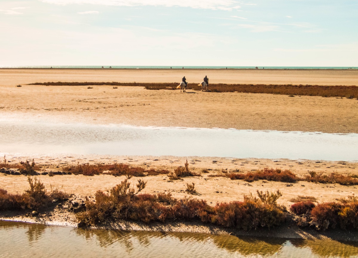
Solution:
[[[211,207],[205,200],[195,198],[176,199],[170,193],[140,194],[145,183],[138,180],[137,190],[128,180],[109,190],[97,191],[95,202],[86,199],[86,211],[77,214],[82,225],[96,225],[107,219],[131,219],[145,223],[152,221],[201,221],[224,227],[235,226],[249,230],[257,227],[273,227],[284,222],[285,209],[276,204],[280,192],[252,195],[244,202],[221,203]]]

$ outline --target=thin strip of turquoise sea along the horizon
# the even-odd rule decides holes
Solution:
[[[255,66],[135,66],[135,65],[34,65],[0,66],[0,68],[58,68],[58,69],[255,69]],[[358,69],[349,66],[257,66],[258,69]]]

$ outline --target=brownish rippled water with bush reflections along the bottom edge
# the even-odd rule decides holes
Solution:
[[[357,257],[358,244],[198,233],[84,230],[0,220],[0,257]]]

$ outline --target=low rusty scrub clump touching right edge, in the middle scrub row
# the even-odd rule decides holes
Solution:
[[[305,176],[305,180],[308,182],[315,182],[315,183],[329,183],[329,184],[341,184],[341,185],[357,185],[358,179],[348,176],[348,175],[341,175],[336,173],[331,173],[329,175],[325,174],[318,174],[314,171],[310,171],[309,175]]]

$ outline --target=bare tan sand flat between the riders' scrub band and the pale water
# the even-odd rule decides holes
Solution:
[[[92,80],[92,78],[88,78]],[[14,79],[14,81],[16,81]],[[1,85],[3,119],[358,133],[358,101],[346,98],[146,90],[140,86]]]

